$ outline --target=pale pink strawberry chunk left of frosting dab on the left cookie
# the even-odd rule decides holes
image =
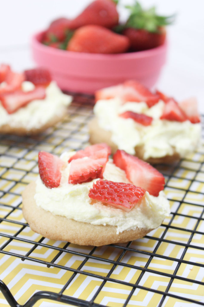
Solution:
[[[11,93],[20,89],[22,82],[25,80],[24,74],[8,70],[6,73],[6,86],[0,87],[0,95]]]

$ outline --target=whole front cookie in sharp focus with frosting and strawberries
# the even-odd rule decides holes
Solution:
[[[169,215],[165,179],[106,143],[61,157],[39,152],[39,177],[23,192],[23,215],[50,239],[105,245],[141,238]],[[32,212],[32,214],[31,214]]]

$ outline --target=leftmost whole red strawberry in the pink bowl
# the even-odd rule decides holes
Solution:
[[[43,42],[57,42],[63,41],[66,37],[66,33],[69,30],[69,19],[58,18],[54,20],[43,37]]]

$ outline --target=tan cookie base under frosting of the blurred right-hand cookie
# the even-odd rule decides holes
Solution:
[[[88,126],[89,126],[89,134],[90,134],[89,142],[91,144],[97,144],[97,143],[105,142],[106,144],[108,144],[111,147],[111,152],[114,154],[116,152],[116,150],[118,149],[118,147],[111,140],[112,133],[110,131],[106,131],[106,130],[102,129],[98,125],[97,118],[93,118],[89,122]],[[135,147],[135,156],[144,160],[143,154],[144,154],[143,146],[136,146]],[[147,161],[148,163],[151,163],[151,164],[157,164],[157,163],[165,163],[165,164],[168,163],[169,164],[169,163],[174,163],[178,160],[180,160],[180,155],[175,152],[172,155],[167,155],[165,157],[160,157],[160,158],[149,158],[145,161]]]

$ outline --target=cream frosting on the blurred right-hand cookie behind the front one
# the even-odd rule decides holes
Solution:
[[[178,153],[185,157],[193,151],[200,140],[201,125],[190,121],[176,122],[161,120],[164,102],[160,100],[153,107],[145,102],[127,102],[119,98],[98,100],[94,106],[94,114],[99,126],[111,131],[111,140],[118,149],[135,154],[136,146],[143,146],[143,159],[160,158]],[[142,113],[153,118],[150,126],[143,126],[133,119],[124,119],[119,114],[125,111]]]

